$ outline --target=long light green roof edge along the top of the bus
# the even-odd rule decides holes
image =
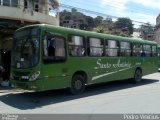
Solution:
[[[27,28],[27,27],[33,27],[33,26],[39,26],[42,29],[49,29],[57,30],[57,32],[67,33],[67,34],[75,34],[75,35],[82,35],[82,36],[90,36],[90,37],[96,37],[96,38],[106,38],[111,40],[120,40],[120,41],[126,41],[126,42],[132,42],[132,43],[143,43],[143,44],[157,44],[154,41],[144,40],[144,39],[135,39],[135,38],[129,38],[129,37],[122,37],[117,35],[110,35],[110,34],[103,34],[103,33],[97,33],[93,31],[85,31],[85,30],[79,30],[79,29],[73,29],[73,28],[67,28],[67,27],[61,27],[61,26],[55,26],[55,25],[48,25],[48,24],[35,24],[35,25],[29,25],[22,27],[18,29],[17,31]]]

